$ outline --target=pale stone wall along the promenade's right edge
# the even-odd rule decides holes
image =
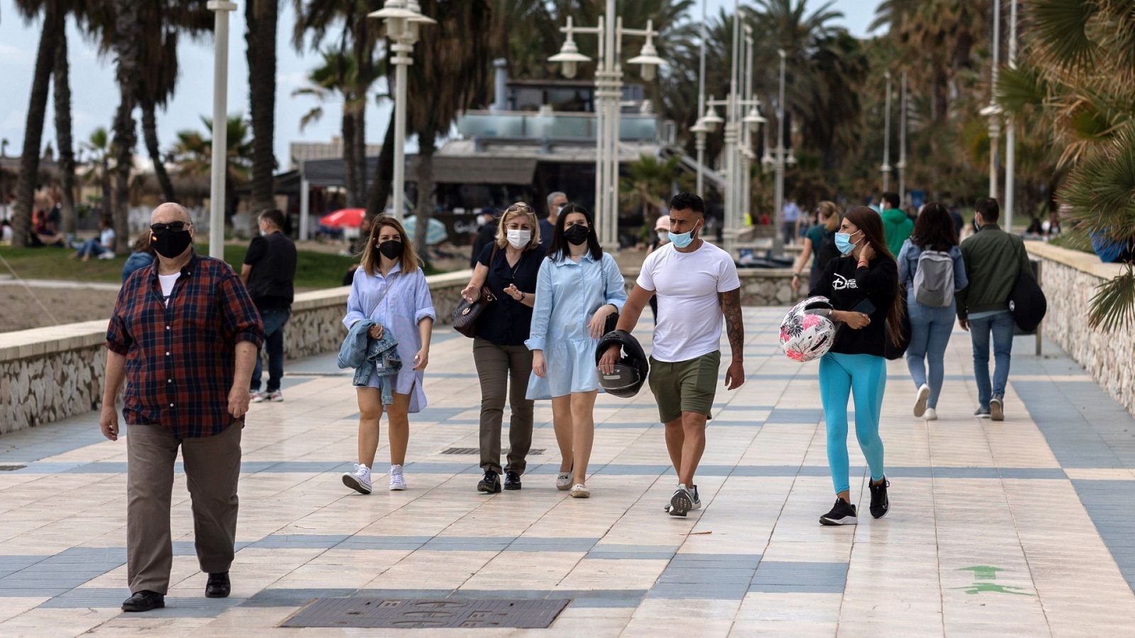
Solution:
[[[1091,253],[1026,242],[1041,260],[1041,287],[1049,311],[1041,329],[1079,363],[1101,387],[1135,414],[1135,329],[1104,333],[1087,325],[1096,286],[1120,274],[1121,266],[1101,263]]]

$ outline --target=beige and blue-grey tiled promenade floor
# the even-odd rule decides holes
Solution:
[[[1007,420],[980,421],[957,331],[941,420],[926,423],[891,362],[891,513],[824,528],[816,364],[780,354],[782,312],[746,311],[748,383],[717,395],[705,509],[688,519],[663,512],[675,481],[649,392],[600,396],[590,500],[553,486],[546,403],[524,489],[479,495],[477,457],[442,454],[477,447],[470,342],[439,330],[410,490],[361,496],[338,478],[355,453],[350,378],[331,356],[291,362],[286,402],[254,405],[244,431],[233,596],[202,595],[179,475],[168,606],[146,614],[118,610],[125,443],[102,439],[94,413],[0,437],[0,636],[337,635],[277,626],[312,598],[355,595],[571,598],[549,629],[468,630],[485,637],[1135,636],[1135,421],[1075,363],[1050,344],[1037,359],[1020,338]],[[854,437],[850,450],[865,505]]]

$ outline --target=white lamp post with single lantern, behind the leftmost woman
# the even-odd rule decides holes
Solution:
[[[394,57],[394,217],[402,219],[405,208],[406,186],[406,74],[414,64],[410,56],[414,52],[419,30],[423,24],[436,24],[432,18],[421,15],[417,0],[386,0],[382,8],[368,14],[386,25],[386,37],[390,41]],[[419,196],[421,196],[419,194]]]

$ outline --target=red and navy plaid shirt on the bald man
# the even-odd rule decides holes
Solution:
[[[262,338],[260,313],[224,261],[194,252],[168,308],[157,261],[132,274],[107,328],[107,347],[126,356],[126,422],[177,438],[220,434],[236,421],[228,413],[236,344],[259,347]]]

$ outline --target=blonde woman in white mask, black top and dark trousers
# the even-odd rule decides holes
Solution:
[[[532,446],[532,401],[526,397],[532,373],[532,351],[524,346],[536,305],[536,279],[544,261],[540,225],[524,202],[501,216],[496,241],[481,249],[477,268],[461,296],[470,302],[487,286],[495,301],[477,318],[473,363],[481,383],[480,448],[485,476],[477,490],[501,492],[501,427],[508,397],[508,463],[503,468],[504,489],[520,489]],[[512,387],[510,388],[510,383]]]

